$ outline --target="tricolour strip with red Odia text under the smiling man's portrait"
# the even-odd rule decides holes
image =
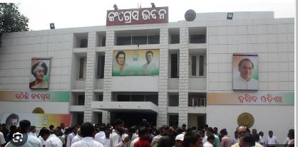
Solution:
[[[294,106],[294,92],[207,93],[207,104]]]

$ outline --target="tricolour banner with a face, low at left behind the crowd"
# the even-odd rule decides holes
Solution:
[[[9,129],[11,125],[19,126],[19,121],[29,120],[31,126],[49,127],[60,126],[61,123],[64,123],[66,127],[71,126],[71,114],[11,114],[4,113],[1,118],[1,124],[6,124],[6,128]]]

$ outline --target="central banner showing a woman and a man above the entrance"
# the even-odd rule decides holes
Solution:
[[[159,75],[160,50],[114,50],[113,76]]]

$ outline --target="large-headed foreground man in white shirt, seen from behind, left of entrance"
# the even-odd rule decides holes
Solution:
[[[71,147],[103,147],[103,144],[94,140],[96,129],[93,124],[86,122],[81,125],[81,134],[83,136],[81,141],[73,143]]]

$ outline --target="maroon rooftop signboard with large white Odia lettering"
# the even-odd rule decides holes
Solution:
[[[168,23],[168,6],[143,9],[108,10],[106,26]]]

